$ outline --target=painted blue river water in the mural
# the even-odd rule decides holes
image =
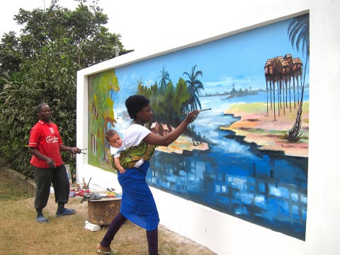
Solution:
[[[200,113],[194,123],[196,132],[210,141],[208,152],[156,152],[147,182],[181,198],[304,240],[308,159],[261,152],[254,143],[219,130],[221,125],[237,120],[223,114],[230,103],[263,102],[266,92],[225,98],[200,97],[202,108],[212,108]]]

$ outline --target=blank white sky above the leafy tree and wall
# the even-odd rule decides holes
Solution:
[[[44,8],[44,6],[47,8],[50,2],[50,0],[12,0],[11,4],[3,5],[0,16],[1,37],[10,30],[18,34],[22,28],[13,21],[19,8],[32,11],[34,8]],[[71,10],[78,5],[78,2],[73,0],[58,2],[60,6]],[[219,22],[225,11],[222,12],[222,8],[218,6],[225,6],[225,1],[211,1],[215,4],[210,8],[213,8],[217,15],[212,15],[212,12],[207,10],[207,6],[203,6],[203,2],[202,0],[173,0],[169,4],[169,1],[164,0],[99,0],[98,6],[108,15],[106,28],[111,33],[121,35],[120,41],[125,49],[142,51],[200,40],[205,38],[202,32],[208,33],[208,36],[220,33],[214,32],[218,28],[209,28],[206,31],[202,31],[202,28],[206,26],[207,20]],[[188,10],[194,10],[195,16],[188,16]],[[193,23],[195,26],[192,26]]]

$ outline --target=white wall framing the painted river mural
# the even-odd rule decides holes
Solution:
[[[337,254],[340,250],[340,4],[336,0],[202,3],[198,1],[207,12],[225,8],[225,16],[220,20],[207,19],[200,35],[196,35],[196,42],[192,36],[186,37],[179,31],[183,39],[176,45],[162,45],[149,52],[132,52],[78,72],[77,147],[88,145],[87,75],[309,12],[310,148],[305,242],[155,188],[152,193],[162,225],[217,254]],[[86,155],[80,154],[77,156],[78,181],[83,176],[87,180],[92,176],[93,187],[119,186],[115,174],[89,166]]]

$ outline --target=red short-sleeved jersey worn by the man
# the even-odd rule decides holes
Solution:
[[[62,137],[55,123],[45,123],[39,120],[30,130],[29,147],[35,147],[38,151],[55,160],[55,166],[62,165],[62,155],[60,154],[59,145],[62,145]],[[30,164],[39,168],[50,168],[42,159],[33,156]]]

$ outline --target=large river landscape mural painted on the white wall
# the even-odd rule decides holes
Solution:
[[[308,58],[307,14],[92,75],[89,164],[115,172],[104,134],[124,137],[132,94],[151,101],[159,135],[205,110],[157,148],[149,186],[305,240]]]

